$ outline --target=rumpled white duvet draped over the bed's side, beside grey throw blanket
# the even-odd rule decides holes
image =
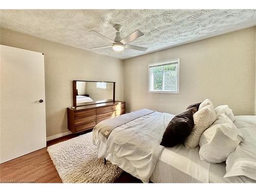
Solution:
[[[125,172],[148,182],[162,153],[165,127],[174,115],[154,112],[116,127],[105,139],[93,131],[99,157],[105,157]]]

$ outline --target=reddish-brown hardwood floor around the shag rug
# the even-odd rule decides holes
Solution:
[[[76,137],[71,134],[47,142],[47,146]],[[61,183],[52,160],[46,151],[47,147],[0,164],[1,183]],[[141,183],[141,181],[128,173],[123,174],[116,183]]]

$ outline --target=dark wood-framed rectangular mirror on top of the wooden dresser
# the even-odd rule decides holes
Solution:
[[[73,81],[73,104],[82,106],[115,100],[115,82]]]

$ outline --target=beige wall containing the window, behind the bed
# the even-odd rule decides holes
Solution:
[[[148,93],[148,63],[180,58],[180,94]],[[235,115],[254,113],[255,29],[248,28],[124,60],[126,111],[179,114],[205,98]]]

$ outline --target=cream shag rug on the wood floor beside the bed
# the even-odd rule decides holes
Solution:
[[[49,146],[47,151],[63,183],[113,183],[123,172],[98,158],[92,132]]]

